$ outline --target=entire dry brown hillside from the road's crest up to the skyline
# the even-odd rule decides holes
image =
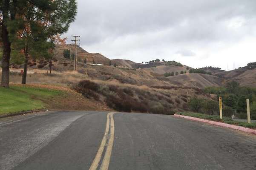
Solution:
[[[73,50],[74,46],[72,45],[56,45],[52,62],[48,59],[29,60],[27,82],[73,88],[85,96],[83,99],[88,103],[97,103],[104,109],[162,114],[197,111],[211,115],[218,114],[216,96],[219,95],[218,91],[225,91],[226,86],[224,85],[241,76],[243,80],[251,79],[250,83],[252,84],[255,82],[253,78],[256,70],[253,64],[235,71],[222,71],[220,68],[211,66],[193,69],[175,61],[160,61],[160,59],[139,64],[124,59],[110,60],[99,53],[91,54],[80,47],[77,49],[77,53],[81,59],[78,59],[77,71],[73,71]],[[64,51],[65,53],[63,53]],[[52,74],[48,72],[50,62],[52,63]],[[21,68],[23,65],[12,65],[11,82],[20,83]],[[192,70],[193,74],[189,73],[189,70]],[[207,74],[207,72],[212,74]],[[246,80],[243,82],[248,83]],[[251,91],[248,90],[249,88],[240,87],[240,85],[239,89],[243,89],[242,91]],[[207,88],[208,91],[204,88]],[[216,91],[210,91],[212,89]],[[233,94],[237,98],[241,95],[249,95],[250,99],[253,99],[252,94],[244,94],[244,92],[241,92],[241,95],[229,94],[229,92],[221,95],[226,97]],[[201,108],[195,110],[192,104],[198,103],[198,101]],[[225,102],[225,99],[223,101]],[[67,103],[69,102],[67,101]],[[47,105],[48,108],[51,103]],[[95,105],[92,104],[92,106]],[[90,106],[83,102],[75,109],[85,107]],[[56,107],[50,106],[49,108]],[[65,107],[63,106],[63,108]],[[67,106],[66,108],[72,107]],[[226,105],[224,109],[227,109],[228,115],[234,111],[241,116],[244,114],[239,109],[237,110],[237,107]]]

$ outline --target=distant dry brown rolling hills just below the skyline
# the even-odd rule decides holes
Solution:
[[[63,50],[70,49],[74,52],[74,45],[56,45],[52,59],[52,71],[66,72],[74,70],[74,61],[63,57]],[[178,62],[153,61],[147,64],[140,64],[126,59],[108,59],[99,53],[89,53],[81,47],[77,47],[78,64],[77,71],[91,79],[98,79],[109,82],[121,82],[132,85],[148,86],[185,86],[191,88],[205,88],[209,86],[224,85],[227,81],[235,80],[241,85],[256,86],[256,65],[238,68],[232,71],[224,71],[220,68],[201,68],[206,74],[189,74],[189,66],[175,66]],[[86,59],[86,62],[85,62]],[[102,65],[90,65],[92,63]],[[111,67],[109,66],[111,64]],[[29,60],[29,70],[40,69],[49,72],[50,60],[33,59]],[[113,67],[117,65],[117,67]],[[22,69],[23,65],[11,65],[11,68]],[[186,74],[180,75],[181,71]],[[173,77],[164,77],[165,73],[178,73]]]

